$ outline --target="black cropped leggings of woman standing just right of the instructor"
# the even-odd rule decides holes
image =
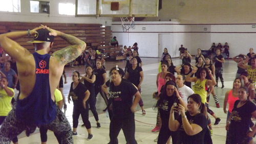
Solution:
[[[89,106],[88,103],[86,103],[86,109],[83,107],[77,107],[74,106],[73,108],[73,128],[77,128],[78,126],[78,118],[79,116],[82,116],[82,122],[86,126],[87,129],[91,129],[91,123],[89,121]]]

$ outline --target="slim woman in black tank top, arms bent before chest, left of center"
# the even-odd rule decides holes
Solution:
[[[83,81],[84,85],[90,91],[90,97],[88,100],[90,109],[93,113],[95,121],[97,122],[97,128],[100,128],[99,117],[96,111],[96,97],[95,97],[95,90],[94,90],[95,80],[96,80],[96,76],[93,74],[93,68],[92,66],[88,65],[86,67],[86,75],[82,77],[81,81]]]

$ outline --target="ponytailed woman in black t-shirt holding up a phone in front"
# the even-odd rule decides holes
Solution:
[[[205,143],[207,128],[206,109],[199,94],[192,94],[187,99],[187,112],[181,104],[172,106],[169,117],[169,130],[179,131],[177,143]],[[179,112],[175,119],[175,112]]]

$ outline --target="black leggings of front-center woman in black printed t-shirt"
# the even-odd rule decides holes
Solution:
[[[118,144],[117,136],[120,130],[123,130],[126,142],[129,144],[137,144],[135,140],[135,119],[134,115],[129,118],[119,118],[113,116],[110,122],[110,143]]]

